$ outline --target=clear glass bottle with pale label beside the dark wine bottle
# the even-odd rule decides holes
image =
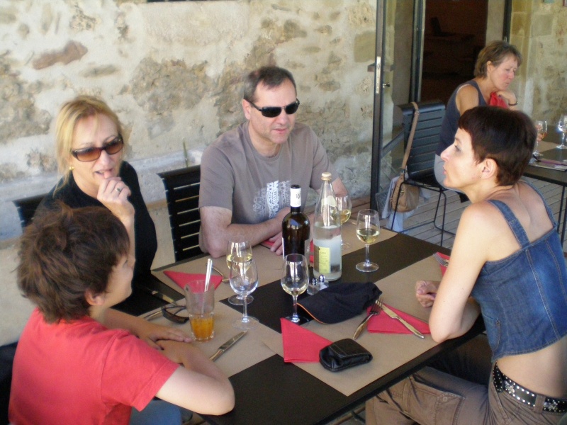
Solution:
[[[326,280],[337,280],[342,273],[341,222],[331,174],[325,172],[321,179],[323,186],[315,207],[313,225],[313,273],[316,277],[325,275]]]

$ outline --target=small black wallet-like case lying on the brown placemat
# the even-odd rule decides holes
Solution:
[[[319,361],[325,369],[338,372],[372,360],[372,354],[354,339],[346,338],[319,351]]]

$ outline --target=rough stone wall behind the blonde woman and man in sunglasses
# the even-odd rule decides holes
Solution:
[[[376,1],[3,0],[0,4],[0,239],[19,234],[11,200],[58,179],[54,122],[77,94],[102,96],[130,140],[147,203],[157,171],[184,166],[244,120],[242,77],[293,72],[298,120],[322,139],[354,197],[368,196]],[[312,198],[313,199],[313,196]]]

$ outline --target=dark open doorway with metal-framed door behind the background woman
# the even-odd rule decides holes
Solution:
[[[512,0],[376,0],[372,208],[383,208],[391,178],[400,172],[398,105],[447,103],[456,86],[473,77],[485,43],[507,39],[511,9]]]

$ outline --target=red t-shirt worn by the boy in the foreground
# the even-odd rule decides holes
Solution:
[[[48,324],[38,309],[13,362],[12,424],[128,424],[179,365],[90,317]]]

